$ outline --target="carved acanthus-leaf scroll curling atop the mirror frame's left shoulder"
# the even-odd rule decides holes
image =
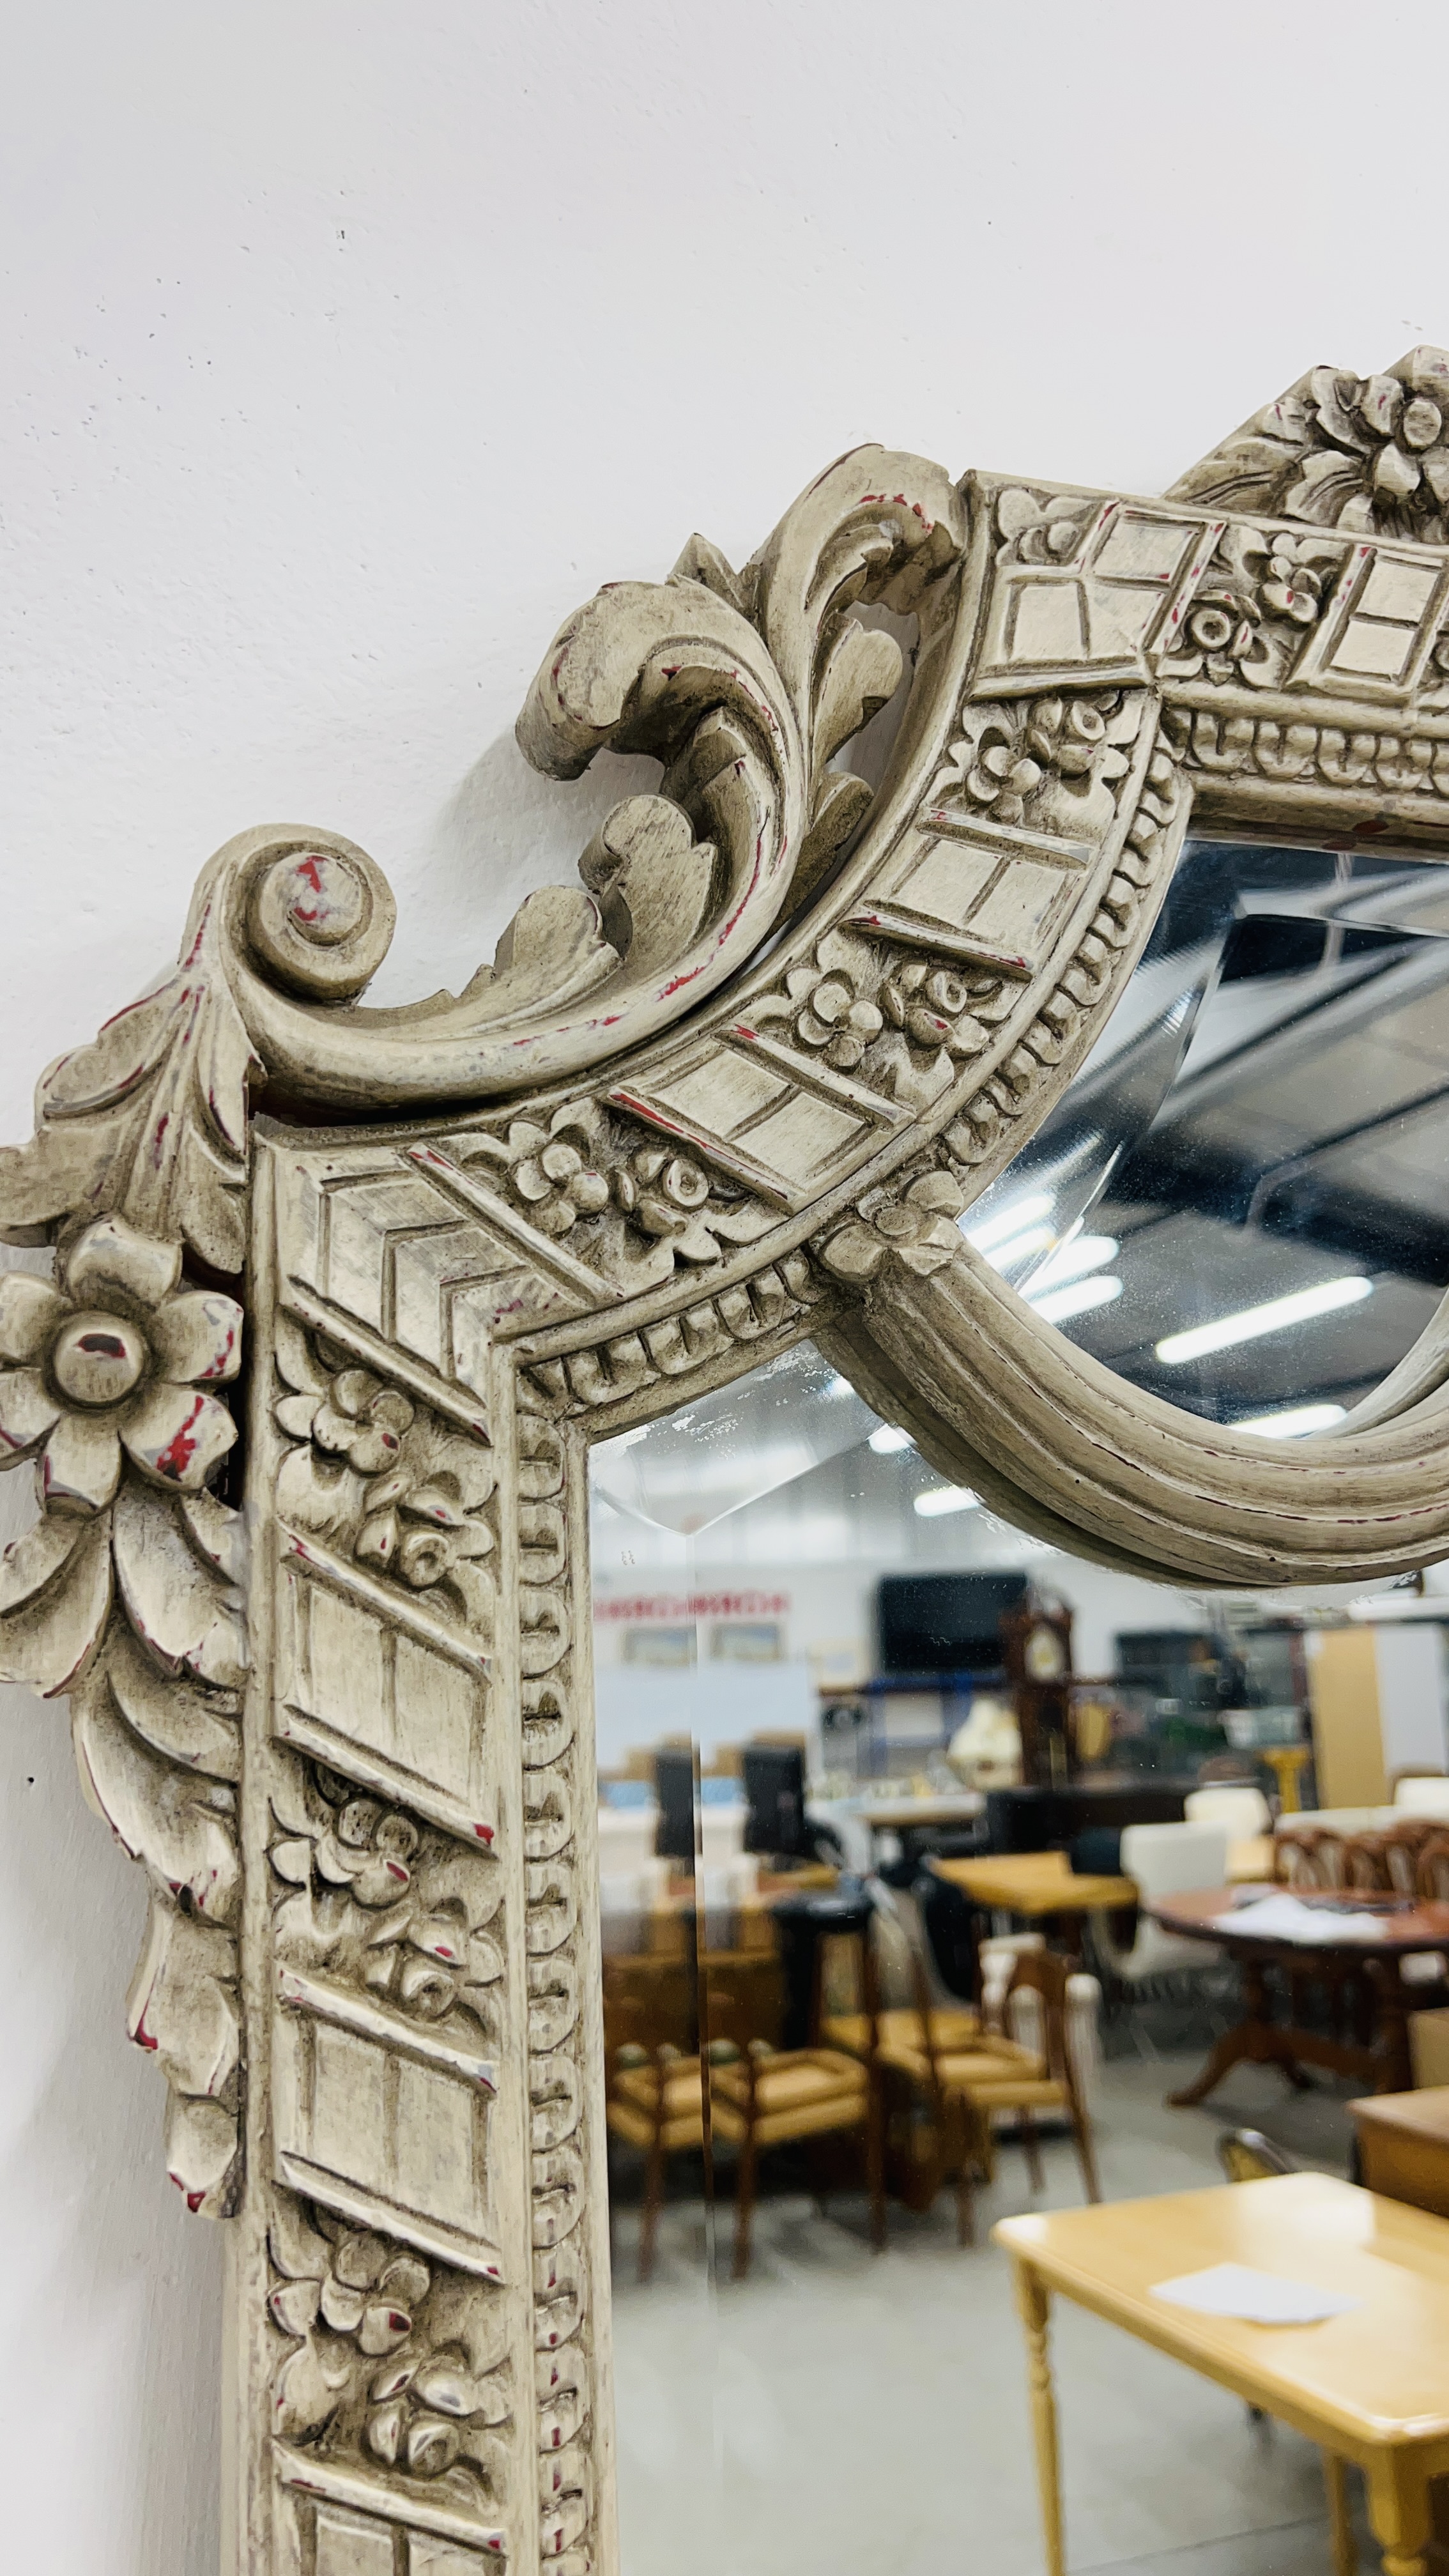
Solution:
[[[294,860],[276,886],[232,845],[229,981],[268,1074],[309,1103],[397,1108],[485,1100],[575,1074],[668,1028],[737,974],[869,806],[835,752],[892,696],[900,647],[856,603],[920,605],[962,549],[962,502],[938,466],[859,448],[786,513],[743,572],[694,538],[668,582],[601,590],[554,636],[518,739],[554,778],[603,747],[652,752],[657,796],[619,806],[580,860],[580,889],[529,896],[492,969],[425,1010],[312,1010],[317,927]],[[322,850],[338,845],[322,842]],[[345,853],[356,868],[361,853]],[[291,871],[291,873],[289,873]],[[289,953],[258,917],[289,927]],[[356,920],[353,920],[356,917]],[[361,989],[384,904],[348,891],[327,956]],[[351,981],[353,951],[358,974]],[[302,958],[299,958],[302,953]],[[366,963],[371,974],[376,958]],[[345,999],[345,987],[333,987]],[[327,994],[333,999],[333,994]]]

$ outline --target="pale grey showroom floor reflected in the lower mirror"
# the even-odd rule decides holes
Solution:
[[[1235,2123],[1274,2128],[1302,2161],[1341,2161],[1333,2094],[1292,2099],[1243,2069],[1207,2110],[1168,2112],[1181,2063],[1104,2069],[1106,2197],[1217,2182],[1212,2141]],[[1044,2205],[1078,2197],[1070,2146],[1052,2141]],[[1031,2205],[1006,2146],[982,2239]],[[1039,2576],[1011,2282],[990,2244],[957,2249],[946,2200],[926,2221],[892,2208],[882,2257],[859,2202],[820,2218],[807,2197],[771,2200],[737,2285],[709,2277],[699,2202],[665,2213],[647,2287],[632,2257],[621,2210],[624,2576]],[[1328,2576],[1310,2442],[1250,2427],[1235,2398],[1065,2303],[1055,2357],[1073,2576]],[[1364,2568],[1377,2563],[1364,2545]]]

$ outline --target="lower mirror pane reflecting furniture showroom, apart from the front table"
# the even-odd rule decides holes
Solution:
[[[1361,1947],[1449,1899],[1441,1618],[1449,1569],[1284,1602],[1075,1561],[810,1347],[596,1450],[627,2576],[1036,2576],[993,2228],[1343,2177],[1354,2102],[1449,2079],[1421,1919],[1392,1991]],[[1238,1935],[1248,1896],[1292,1922]],[[1055,2372],[1067,2566],[1307,2576],[1330,2504],[1377,2566],[1356,2473],[1238,2396],[1070,2306]]]

